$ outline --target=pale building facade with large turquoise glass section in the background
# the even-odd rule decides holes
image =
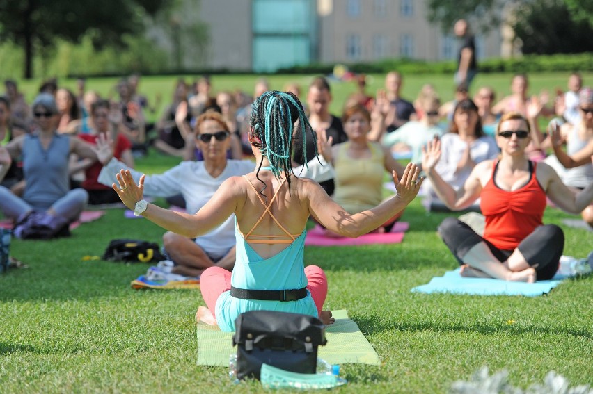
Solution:
[[[194,67],[209,69],[450,60],[459,44],[427,22],[424,0],[202,0],[198,15],[209,40]],[[477,56],[500,56],[501,42],[500,31],[476,35]]]

